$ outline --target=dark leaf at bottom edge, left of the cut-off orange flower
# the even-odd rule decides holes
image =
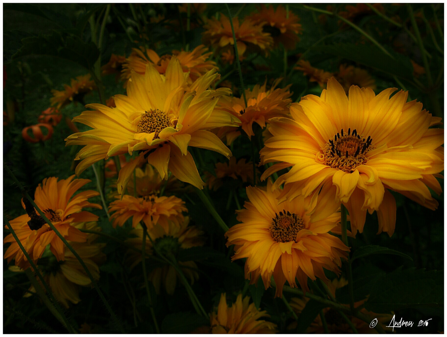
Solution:
[[[177,312],[168,315],[161,323],[162,333],[191,333],[203,325],[209,326],[210,321],[190,312]]]

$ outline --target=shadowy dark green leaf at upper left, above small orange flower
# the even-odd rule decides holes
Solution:
[[[13,59],[28,55],[56,56],[90,69],[99,57],[99,49],[93,42],[84,42],[77,36],[59,32],[24,38],[22,43],[23,46],[13,55]]]

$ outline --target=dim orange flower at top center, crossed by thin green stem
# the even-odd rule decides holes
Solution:
[[[202,33],[204,43],[211,44],[220,50],[233,48],[234,39],[228,17],[220,13],[219,20],[213,17],[203,28],[206,30]],[[270,34],[264,33],[262,25],[254,24],[249,18],[239,23],[239,19],[233,17],[233,28],[239,56],[244,55],[247,48],[254,51],[267,51],[273,46],[273,38]]]

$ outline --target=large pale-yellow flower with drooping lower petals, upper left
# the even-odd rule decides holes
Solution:
[[[218,98],[230,90],[207,90],[219,77],[215,70],[188,85],[184,73],[174,57],[165,75],[160,75],[151,64],[144,75],[132,73],[127,85],[127,96],[115,95],[116,108],[89,104],[96,111],[84,111],[73,121],[93,128],[69,136],[67,145],[86,145],[76,156],[83,159],[76,166],[79,175],[101,159],[141,150],[139,156],[122,168],[118,178],[118,192],[126,187],[134,168],[147,158],[162,179],[168,169],[181,181],[203,188],[188,146],[195,146],[231,156],[230,150],[207,129],[235,125],[232,115],[215,110]]]

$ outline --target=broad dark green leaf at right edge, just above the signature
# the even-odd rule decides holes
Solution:
[[[443,271],[399,268],[375,282],[365,308],[377,313],[419,306],[442,309],[443,299]]]

